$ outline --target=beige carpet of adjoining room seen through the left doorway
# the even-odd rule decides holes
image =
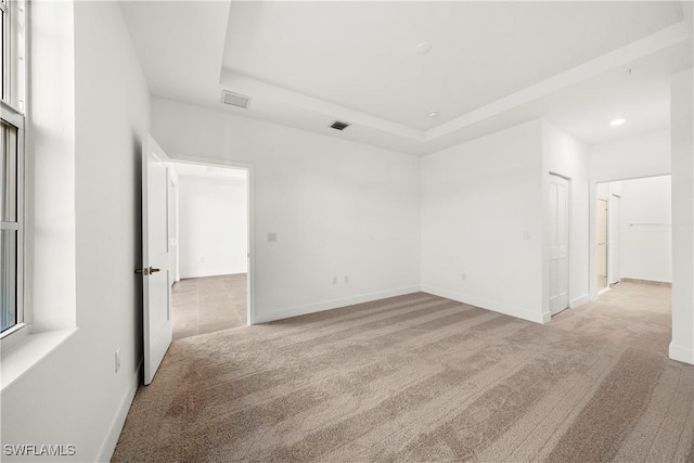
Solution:
[[[246,325],[246,273],[183,279],[171,288],[174,339]]]

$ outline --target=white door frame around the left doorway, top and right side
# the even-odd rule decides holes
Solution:
[[[229,167],[243,169],[247,172],[247,209],[248,209],[248,281],[246,282],[246,324],[256,324],[256,246],[255,246],[255,193],[254,193],[254,166],[253,164],[239,163],[235,160],[217,159],[213,157],[188,156],[181,154],[169,154],[169,159],[174,163],[195,164],[198,166]]]

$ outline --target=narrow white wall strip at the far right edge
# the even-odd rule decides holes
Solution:
[[[691,14],[691,12],[690,12]],[[672,343],[670,357],[694,363],[694,117],[692,69],[672,76]]]

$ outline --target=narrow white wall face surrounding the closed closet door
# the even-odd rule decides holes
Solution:
[[[542,124],[543,153],[543,201],[545,235],[549,233],[549,181],[550,173],[569,179],[569,252],[568,252],[568,298],[569,307],[578,307],[589,300],[589,182],[588,182],[588,149],[568,133],[557,129],[548,121]],[[550,243],[547,240],[543,270],[543,294],[550,292]],[[549,299],[543,300],[545,321],[549,313]]]

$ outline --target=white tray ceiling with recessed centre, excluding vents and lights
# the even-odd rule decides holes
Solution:
[[[666,128],[669,76],[693,63],[680,1],[121,7],[156,97],[420,155],[537,117],[586,143]]]

